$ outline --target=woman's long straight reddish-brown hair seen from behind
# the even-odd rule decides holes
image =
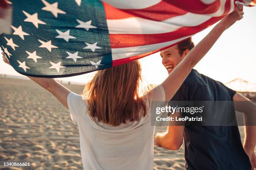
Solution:
[[[112,126],[138,121],[140,111],[144,117],[146,103],[145,98],[139,96],[140,81],[138,60],[99,70],[82,94],[87,98],[90,116]]]

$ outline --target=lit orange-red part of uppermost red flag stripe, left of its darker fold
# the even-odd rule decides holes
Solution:
[[[120,10],[105,2],[103,2],[103,5],[107,20],[140,17],[148,20],[162,21],[187,13],[187,11],[172,5],[169,1],[161,1],[156,5],[140,10]]]

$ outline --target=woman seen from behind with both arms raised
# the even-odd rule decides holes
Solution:
[[[164,106],[223,31],[242,17],[240,10],[226,16],[161,85],[142,97],[138,94],[141,80],[138,61],[98,71],[83,95],[70,92],[54,79],[29,78],[51,92],[77,122],[84,169],[150,170],[154,166],[150,102],[162,101],[158,107]],[[8,63],[6,57],[4,61]]]

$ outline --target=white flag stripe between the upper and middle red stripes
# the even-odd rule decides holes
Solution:
[[[210,18],[205,15],[187,13],[162,22],[133,17],[121,20],[107,20],[107,24],[110,34],[158,34],[172,32],[184,26],[197,26]],[[120,29],[121,27],[125,28],[125,31]]]

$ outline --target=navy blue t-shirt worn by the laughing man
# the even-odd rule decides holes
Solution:
[[[172,101],[232,101],[236,91],[192,70]],[[187,170],[251,170],[237,126],[185,126]]]

